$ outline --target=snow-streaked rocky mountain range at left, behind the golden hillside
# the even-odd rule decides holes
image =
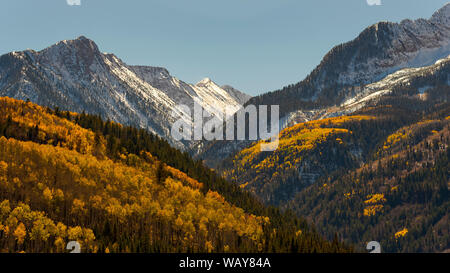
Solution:
[[[193,85],[160,67],[131,66],[101,53],[86,37],[64,40],[42,51],[12,52],[0,57],[0,96],[29,99],[63,110],[100,114],[154,132],[180,148],[170,128],[177,105],[194,101],[214,115],[242,103],[210,79]],[[188,113],[184,113],[188,114]]]

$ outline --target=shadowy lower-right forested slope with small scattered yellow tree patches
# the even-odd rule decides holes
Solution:
[[[289,206],[359,247],[376,240],[389,252],[449,249],[449,129],[449,116],[405,126],[373,160],[320,179]]]

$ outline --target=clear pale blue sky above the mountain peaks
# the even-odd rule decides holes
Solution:
[[[429,18],[447,0],[381,2],[0,0],[0,54],[85,35],[128,64],[163,66],[190,83],[210,77],[257,95],[304,79],[328,50],[365,27]]]

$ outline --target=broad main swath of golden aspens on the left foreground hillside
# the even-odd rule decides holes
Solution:
[[[172,223],[180,236],[187,238],[183,243],[186,248],[195,248],[195,238],[207,238],[213,227],[225,234],[235,232],[251,238],[255,244],[261,241],[266,219],[246,214],[217,192],[204,195],[201,183],[173,168],[167,170],[171,177],[159,184],[156,166],[149,163],[130,167],[62,147],[1,137],[0,198],[25,196],[30,205],[49,213],[45,216],[43,212],[31,212],[28,205],[19,205],[10,213],[8,206],[0,205],[1,230],[4,234],[12,230],[21,242],[23,232],[18,225],[22,221],[26,238],[40,241],[52,251],[63,251],[62,242],[66,239],[78,240],[85,249],[95,251],[96,236],[83,225],[96,223],[96,216],[117,219],[119,223],[140,217],[141,222],[160,219]],[[30,223],[16,217],[16,222],[8,220],[5,224],[4,219],[9,219],[10,214],[23,210],[37,219]],[[80,226],[66,227],[51,218]],[[112,252],[119,251],[113,245],[108,247]],[[203,247],[211,249],[210,245]]]

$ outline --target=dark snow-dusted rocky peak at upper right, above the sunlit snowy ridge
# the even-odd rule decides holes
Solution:
[[[358,88],[400,69],[423,67],[450,54],[450,3],[429,20],[380,22],[353,41],[334,47],[305,80],[252,98],[280,104],[283,116],[297,110],[339,105]]]

